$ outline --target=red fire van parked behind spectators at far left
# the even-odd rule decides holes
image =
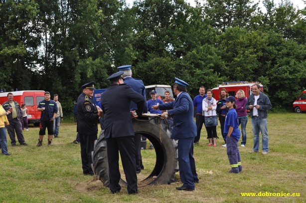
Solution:
[[[0,104],[2,105],[7,101],[7,93],[0,93]],[[27,115],[28,123],[34,123],[35,126],[39,125],[40,122],[40,111],[37,111],[37,106],[40,101],[44,100],[45,91],[42,90],[27,90],[27,91],[14,91],[11,92],[14,96],[14,101],[18,102],[20,107],[21,104],[25,104],[29,110]]]

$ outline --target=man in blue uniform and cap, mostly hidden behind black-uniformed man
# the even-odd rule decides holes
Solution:
[[[145,99],[145,108],[143,113],[148,112],[148,102],[146,98],[146,87],[144,82],[141,79],[134,79],[132,77],[132,65],[123,65],[118,67],[118,70],[123,71],[124,83],[129,85],[134,91],[138,92],[139,94],[143,95]],[[137,105],[135,102],[131,102],[130,111],[137,110]],[[136,173],[140,173],[141,169],[144,169],[143,161],[142,161],[142,154],[141,154],[141,137],[142,134],[136,133],[134,137],[135,142],[135,159],[136,159]]]

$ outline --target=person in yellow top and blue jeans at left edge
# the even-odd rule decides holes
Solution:
[[[5,111],[0,104],[0,148],[2,154],[9,156],[10,154],[7,152],[7,143],[6,143],[6,132],[5,126],[9,125],[7,115],[10,114],[9,111]]]

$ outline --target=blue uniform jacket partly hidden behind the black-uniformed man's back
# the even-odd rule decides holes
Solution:
[[[143,113],[147,113],[148,102],[146,98],[146,87],[144,85],[144,82],[141,79],[134,79],[133,77],[125,77],[124,79],[125,79],[124,81],[125,84],[129,85],[137,93],[143,95],[143,97],[145,98],[145,108]],[[136,109],[137,109],[137,104],[132,101],[130,110],[134,111]]]

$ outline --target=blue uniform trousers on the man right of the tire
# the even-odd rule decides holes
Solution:
[[[178,139],[177,142],[180,180],[183,187],[189,189],[194,189],[194,183],[199,182],[193,158],[193,141],[194,137]]]

